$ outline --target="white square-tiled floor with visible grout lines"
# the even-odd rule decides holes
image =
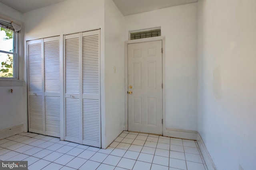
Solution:
[[[196,141],[124,131],[107,148],[21,133],[0,140],[0,160],[29,170],[208,170]]]

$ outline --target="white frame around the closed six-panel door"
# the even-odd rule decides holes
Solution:
[[[133,39],[124,42],[124,50],[125,50],[125,61],[124,61],[124,74],[125,74],[125,127],[124,130],[128,131],[128,44],[134,43],[144,43],[150,41],[159,41],[162,40],[162,80],[163,80],[163,91],[162,91],[162,101],[163,101],[163,136],[166,136],[166,123],[165,123],[165,36],[159,37],[150,37],[150,38],[142,38],[142,39]]]

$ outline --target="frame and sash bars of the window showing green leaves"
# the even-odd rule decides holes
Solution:
[[[4,27],[2,27],[4,28]],[[4,28],[6,29],[6,28]],[[9,29],[10,30],[10,29]],[[13,55],[13,76],[12,77],[0,77],[0,80],[18,80],[19,79],[19,33],[13,30],[13,52],[10,51],[2,51],[0,53],[12,54]]]

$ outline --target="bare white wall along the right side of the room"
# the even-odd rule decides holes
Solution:
[[[256,1],[198,1],[198,131],[218,170],[256,167]]]

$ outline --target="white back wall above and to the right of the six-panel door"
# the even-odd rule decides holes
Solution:
[[[161,27],[165,36],[167,128],[197,130],[197,4],[186,4],[125,16],[129,31]]]

